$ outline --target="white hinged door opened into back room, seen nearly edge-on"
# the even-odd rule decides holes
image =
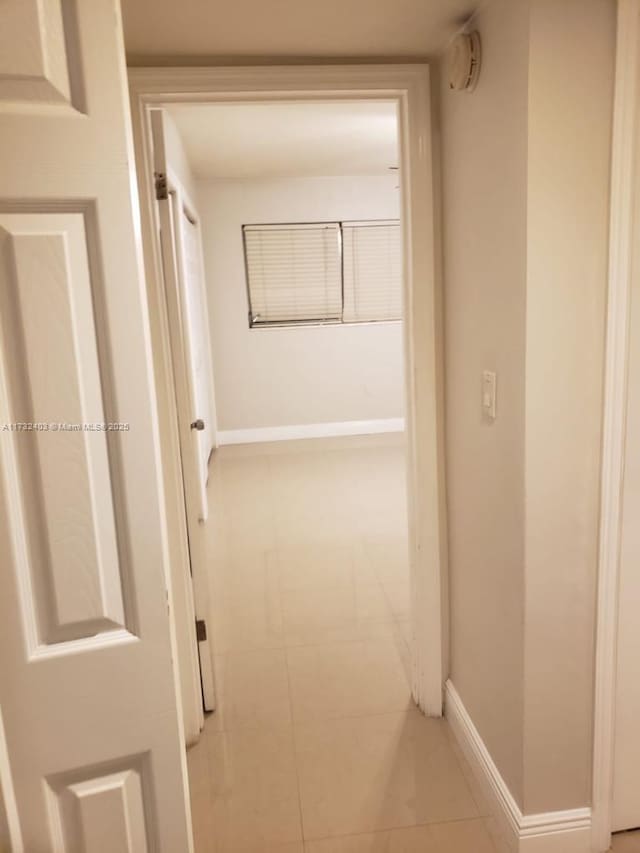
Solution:
[[[157,213],[162,250],[164,296],[166,301],[167,331],[171,349],[173,387],[178,421],[182,480],[183,508],[186,510],[188,546],[193,579],[195,616],[205,626],[209,616],[209,581],[206,564],[206,473],[203,470],[203,452],[198,441],[199,431],[193,429],[195,391],[195,362],[191,355],[189,305],[186,295],[186,252],[183,237],[183,190],[173,177],[167,160],[164,113],[151,114],[153,133],[154,173],[161,178],[163,190],[158,193]],[[202,284],[202,282],[200,282]],[[207,340],[208,344],[208,340]],[[209,413],[205,412],[205,417]],[[206,454],[207,461],[209,454]],[[208,634],[198,638],[200,676],[204,709],[215,708],[215,681],[213,653]]]

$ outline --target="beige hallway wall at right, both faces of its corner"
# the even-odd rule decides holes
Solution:
[[[531,814],[590,798],[615,4],[474,25],[476,91],[440,89],[451,676]]]

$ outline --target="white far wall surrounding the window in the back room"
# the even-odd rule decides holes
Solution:
[[[397,176],[198,184],[218,428],[398,418],[402,324],[249,329],[242,225],[399,216]]]

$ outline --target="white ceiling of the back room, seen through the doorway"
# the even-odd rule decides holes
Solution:
[[[199,178],[389,175],[398,165],[395,104],[173,104]]]

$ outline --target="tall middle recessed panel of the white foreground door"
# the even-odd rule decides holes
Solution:
[[[33,653],[125,627],[122,548],[83,214],[0,214],[0,258],[0,421]]]

